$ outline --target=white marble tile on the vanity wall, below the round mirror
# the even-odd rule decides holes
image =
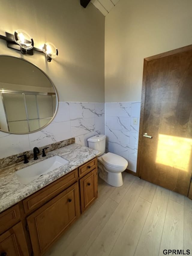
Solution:
[[[87,138],[104,134],[104,103],[59,102],[54,120],[43,130],[31,134],[0,131],[0,159],[75,137],[87,146]]]

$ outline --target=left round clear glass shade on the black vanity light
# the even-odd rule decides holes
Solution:
[[[33,48],[33,39],[25,30],[17,29],[14,33],[14,41],[26,50]]]

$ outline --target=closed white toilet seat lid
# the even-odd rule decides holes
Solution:
[[[126,168],[128,165],[128,161],[125,158],[111,152],[108,152],[107,154],[102,155],[102,160],[106,165],[109,165],[111,167]]]

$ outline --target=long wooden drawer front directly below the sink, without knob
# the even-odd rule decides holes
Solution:
[[[23,206],[26,213],[32,212],[42,206],[44,203],[59,194],[65,188],[75,183],[78,179],[78,170],[71,171],[60,179],[42,188],[40,191],[32,194],[23,200]]]

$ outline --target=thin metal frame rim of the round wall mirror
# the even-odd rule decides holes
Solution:
[[[43,130],[43,128],[45,128],[47,125],[49,125],[49,124],[52,122],[52,120],[55,118],[56,113],[57,113],[57,111],[58,111],[58,93],[57,93],[57,90],[56,90],[56,88],[55,88],[53,82],[51,81],[51,79],[48,77],[48,75],[47,75],[41,68],[39,68],[37,65],[33,64],[32,62],[30,62],[30,61],[28,61],[28,60],[26,60],[26,59],[24,59],[24,58],[20,58],[20,57],[13,56],[13,55],[0,54],[0,57],[1,57],[1,56],[3,56],[3,57],[13,57],[13,58],[16,58],[16,59],[21,59],[21,60],[23,60],[23,61],[26,61],[26,62],[32,64],[32,65],[35,66],[36,68],[38,68],[38,69],[49,79],[49,81],[50,81],[50,83],[51,83],[53,89],[55,90],[55,95],[56,95],[56,109],[55,109],[55,113],[54,113],[54,115],[52,116],[51,120],[50,120],[48,123],[46,123],[46,125],[44,125],[44,126],[42,126],[41,128],[39,128],[38,130],[29,131],[29,132],[27,132],[27,133],[26,133],[26,132],[19,132],[19,133],[18,133],[18,132],[4,131],[4,130],[1,130],[1,129],[0,129],[0,132],[5,132],[5,133],[8,133],[8,134],[17,134],[17,135],[20,134],[20,135],[21,135],[21,134],[35,133],[35,132],[37,132],[37,131]]]

